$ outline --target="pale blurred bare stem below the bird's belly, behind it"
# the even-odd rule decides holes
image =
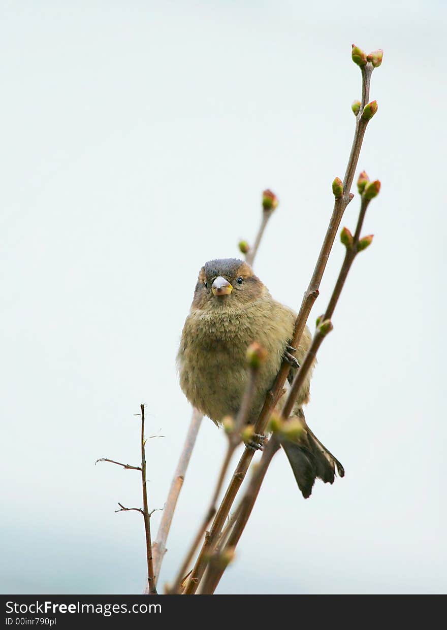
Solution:
[[[160,575],[161,563],[166,553],[166,540],[168,539],[169,530],[171,528],[172,517],[174,515],[175,507],[177,505],[178,496],[182,490],[183,481],[189,464],[190,457],[192,455],[192,449],[194,449],[195,440],[199,433],[200,424],[202,423],[202,414],[197,409],[192,411],[192,418],[189,425],[188,433],[185,438],[185,444],[183,444],[182,453],[178,460],[177,468],[171,486],[166,498],[165,507],[163,508],[163,516],[161,517],[160,525],[158,526],[158,532],[156,540],[153,544],[153,556],[154,556],[154,572],[155,583],[158,581]]]

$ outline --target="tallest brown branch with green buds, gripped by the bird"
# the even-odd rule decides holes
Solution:
[[[371,73],[373,72],[372,64],[368,63],[366,64],[366,66],[361,67],[361,72],[363,81],[362,101],[359,113],[356,117],[356,129],[354,132],[354,139],[352,141],[351,153],[349,155],[345,171],[343,181],[343,195],[342,197],[335,199],[334,210],[332,211],[332,216],[330,217],[322,248],[320,249],[320,254],[318,255],[318,260],[316,261],[315,269],[308,285],[308,289],[306,290],[303,301],[301,302],[301,307],[295,321],[293,340],[291,341],[291,345],[294,348],[299,347],[299,342],[301,341],[301,336],[303,335],[303,331],[305,329],[311,308],[316,298],[318,297],[320,283],[322,281],[323,273],[326,268],[332,245],[334,244],[335,235],[337,234],[337,231],[339,229],[340,221],[348,203],[351,202],[353,197],[350,192],[352,180],[354,179],[354,173],[357,168],[357,161],[359,158],[364,133],[368,125],[368,121],[363,120],[363,118],[361,117],[361,113],[363,112],[364,105],[366,105],[366,103],[368,103],[369,101],[369,83],[371,79]],[[274,386],[272,387],[271,391],[267,392],[264,406],[258,417],[257,423],[255,424],[256,433],[264,433],[270,414],[272,413],[272,410],[274,410],[276,403],[282,394],[282,388],[284,387],[284,383],[286,382],[289,369],[290,366],[286,364],[286,362],[283,362],[281,369],[277,374]],[[247,474],[247,470],[250,466],[252,458],[253,452],[249,449],[245,449],[238,463],[238,466],[236,467],[236,471],[233,474],[233,478],[229,483],[228,489],[226,491],[226,494],[224,495],[218,512],[214,517],[209,536],[206,537],[202,545],[199,557],[197,558],[194,569],[192,570],[189,581],[187,583],[187,587],[185,588],[185,594],[192,594],[195,593],[195,591],[197,590],[200,580],[204,575],[207,558],[209,558],[214,552],[216,541],[223,528],[229,510],[231,509],[231,505],[233,505],[235,496],[238,493],[243,479],[245,478],[245,474]]]

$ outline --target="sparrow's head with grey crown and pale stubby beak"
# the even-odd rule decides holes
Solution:
[[[243,309],[267,292],[248,263],[238,258],[210,260],[200,269],[192,308]]]

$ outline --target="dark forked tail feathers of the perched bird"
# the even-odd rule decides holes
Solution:
[[[338,459],[311,432],[303,411],[299,410],[297,415],[303,432],[296,441],[281,440],[281,446],[289,459],[298,488],[307,499],[317,477],[325,483],[334,483],[335,469],[340,477],[344,476],[345,471]]]

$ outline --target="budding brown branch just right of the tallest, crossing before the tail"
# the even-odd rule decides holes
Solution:
[[[317,326],[316,333],[313,336],[310,348],[306,353],[301,367],[299,367],[298,369],[298,373],[296,374],[292,387],[289,391],[289,396],[287,397],[286,404],[284,405],[281,413],[281,417],[283,420],[287,420],[287,418],[289,418],[289,415],[293,411],[293,407],[299,390],[301,389],[301,386],[306,379],[306,375],[308,374],[311,365],[313,365],[316,353],[322,345],[325,336],[328,334],[328,332],[330,332],[330,330],[332,330],[332,323],[330,321],[330,318],[334,314],[335,306],[337,306],[337,302],[339,301],[340,294],[344,287],[349,270],[351,269],[352,263],[359,253],[358,244],[360,239],[360,232],[363,227],[364,216],[366,214],[366,209],[368,208],[369,202],[370,200],[366,199],[363,195],[361,199],[359,217],[357,219],[356,232],[352,239],[352,243],[349,246],[346,246],[345,258],[342,263],[342,267],[340,268],[337,282],[335,282],[335,287],[332,291],[328,307],[325,314],[322,316],[322,318],[320,318],[322,319],[322,321]],[[213,561],[209,564],[209,569],[207,570],[207,573],[204,577],[204,585],[202,588],[203,594],[209,595],[214,593],[214,590],[218,586],[221,576],[223,575],[224,570],[226,569],[226,566],[228,564],[224,560],[225,558],[232,557],[235,552],[242,532],[245,529],[245,525],[247,525],[248,518],[252,513],[253,505],[255,504],[255,501],[257,499],[262,481],[264,481],[265,473],[267,473],[267,469],[270,466],[273,455],[277,452],[279,446],[280,444],[277,440],[276,435],[272,435],[269,440],[269,444],[262,454],[260,464],[252,479],[250,480],[247,492],[243,496],[241,503],[238,506],[238,511],[240,513],[233,527],[233,530],[228,537],[228,542],[226,543],[223,550],[219,551],[219,553],[214,554],[215,558],[213,558]]]

